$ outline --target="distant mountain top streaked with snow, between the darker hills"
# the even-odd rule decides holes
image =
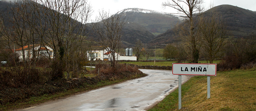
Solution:
[[[117,14],[124,14],[129,23],[140,24],[155,36],[173,28],[184,19],[184,17],[175,14],[139,8],[127,8]]]

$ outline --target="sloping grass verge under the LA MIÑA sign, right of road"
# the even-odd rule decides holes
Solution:
[[[182,85],[180,111],[255,111],[256,68],[217,73],[211,77],[207,99],[207,77],[195,76]],[[148,111],[177,111],[178,89]]]

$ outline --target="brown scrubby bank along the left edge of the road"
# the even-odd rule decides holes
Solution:
[[[98,74],[98,68],[99,75]],[[57,67],[58,69],[58,67]],[[96,64],[91,73],[94,77],[82,77],[79,79],[52,79],[55,76],[54,68],[24,68],[24,67],[0,67],[0,105],[11,104],[30,97],[55,94],[74,88],[93,88],[101,81],[116,81],[121,79],[133,79],[143,77],[137,67],[118,64],[115,69],[109,64]]]

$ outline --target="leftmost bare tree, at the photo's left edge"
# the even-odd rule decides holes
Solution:
[[[5,12],[1,12],[1,17],[3,19],[3,24],[1,25],[3,31],[1,31],[1,35],[3,35],[5,41],[8,41],[8,44],[9,41],[11,41],[14,44],[17,44],[18,47],[22,47],[22,61],[24,66],[27,66],[27,59],[23,46],[29,43],[27,35],[28,25],[26,20],[28,14],[26,3],[27,2],[23,1],[10,1],[10,6],[12,6],[12,8],[9,13],[11,16],[7,15],[7,17],[4,17],[3,15],[5,15]],[[7,23],[12,27],[5,26]]]

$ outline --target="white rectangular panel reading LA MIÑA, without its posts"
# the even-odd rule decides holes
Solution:
[[[173,63],[174,75],[216,76],[217,64]]]

